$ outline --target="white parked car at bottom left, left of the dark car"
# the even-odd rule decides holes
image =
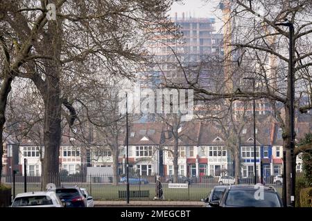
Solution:
[[[19,193],[11,207],[63,207],[61,200],[52,191]]]

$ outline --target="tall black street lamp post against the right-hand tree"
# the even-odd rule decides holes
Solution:
[[[287,21],[287,20],[286,20]],[[294,100],[295,100],[295,84],[294,84],[294,75],[293,75],[293,35],[295,28],[293,26],[293,23],[291,21],[288,21],[287,23],[275,23],[275,26],[286,26],[289,27],[289,59],[288,59],[288,111],[289,111],[289,117],[290,117],[290,129],[291,129],[291,142],[290,142],[290,151],[291,151],[291,171],[289,171],[291,176],[291,206],[295,206],[295,154],[294,154],[294,148],[295,148],[295,115],[294,115]]]

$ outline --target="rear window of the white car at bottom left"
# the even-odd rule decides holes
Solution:
[[[16,198],[12,204],[15,206],[43,206],[53,204],[51,198],[47,195],[26,196],[22,198]]]

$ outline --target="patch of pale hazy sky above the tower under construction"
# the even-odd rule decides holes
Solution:
[[[222,27],[222,22],[218,17],[222,17],[220,10],[216,10],[220,0],[184,0],[182,3],[173,3],[170,15],[182,17],[184,12],[185,17],[214,17],[216,19],[216,31]]]

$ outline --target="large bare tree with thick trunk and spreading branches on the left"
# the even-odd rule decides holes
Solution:
[[[55,20],[46,17],[47,3],[6,1],[1,3],[1,21],[21,48],[9,73],[31,79],[44,101],[43,184],[59,184],[57,177],[49,180],[47,173],[59,171],[61,106],[69,111],[69,125],[77,118],[74,100],[67,96],[67,81],[74,78],[79,85],[89,76],[90,61],[97,62],[94,68],[131,77],[146,61],[144,41],[152,33],[149,30],[170,25],[160,21],[166,20],[171,1],[55,0],[51,1]],[[84,68],[84,75],[75,75],[76,68]]]

